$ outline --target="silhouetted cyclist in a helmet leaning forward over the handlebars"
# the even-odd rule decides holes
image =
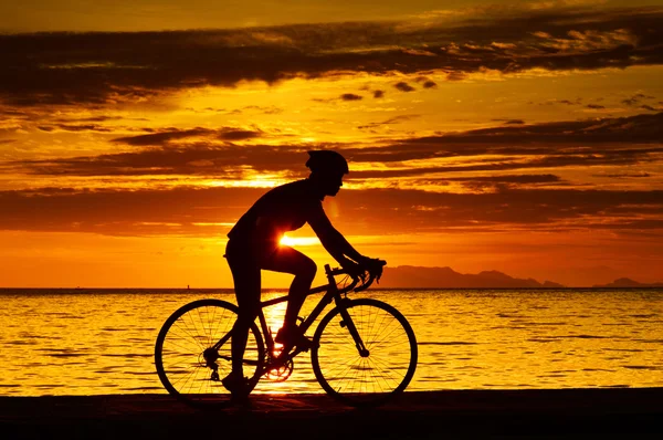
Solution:
[[[323,209],[323,199],[336,196],[343,186],[343,177],[349,171],[346,159],[333,150],[313,150],[308,155],[308,178],[267,191],[228,233],[225,258],[232,272],[239,315],[232,329],[232,371],[222,384],[233,397],[248,395],[242,358],[249,328],[260,310],[261,270],[295,275],[283,327],[275,337],[277,343],[283,344],[282,353],[294,346],[311,347],[311,341],[297,327],[296,318],[317,266],[302,252],[280,243],[285,232],[308,223],[327,252],[351,274],[361,273],[376,261],[357,252],[332,226]]]

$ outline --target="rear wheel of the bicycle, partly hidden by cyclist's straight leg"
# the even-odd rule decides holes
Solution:
[[[157,374],[168,392],[197,407],[230,402],[221,379],[232,368],[230,332],[236,317],[238,307],[221,300],[194,301],[170,315],[155,345]],[[244,353],[244,376],[251,389],[260,379],[263,362],[262,335],[253,324]]]

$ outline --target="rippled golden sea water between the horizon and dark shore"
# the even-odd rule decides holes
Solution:
[[[266,292],[263,300],[284,292]],[[412,325],[408,390],[663,386],[663,290],[369,290]],[[0,290],[0,395],[166,392],[154,345],[181,305],[219,290]],[[309,296],[303,315],[320,295]],[[280,327],[285,304],[266,311]],[[330,306],[328,307],[330,310]],[[313,334],[313,329],[309,334]],[[308,354],[254,392],[323,392]]]

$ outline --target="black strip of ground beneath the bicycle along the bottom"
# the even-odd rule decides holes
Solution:
[[[220,410],[168,395],[0,397],[8,439],[661,438],[662,421],[663,388],[412,391],[373,409],[324,394],[252,395],[250,408]]]

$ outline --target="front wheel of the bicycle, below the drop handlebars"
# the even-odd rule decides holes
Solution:
[[[366,352],[350,335],[343,310]],[[408,319],[391,305],[368,298],[348,301],[325,315],[311,352],[323,389],[355,407],[381,405],[406,389],[417,358],[417,338]]]

